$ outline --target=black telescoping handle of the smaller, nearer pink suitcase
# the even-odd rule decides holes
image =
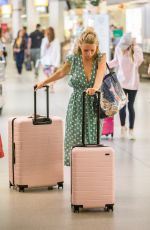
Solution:
[[[98,101],[100,101],[100,91],[96,91],[95,94],[98,95]],[[83,92],[83,113],[82,113],[82,144],[85,145],[85,100],[86,100],[86,91]],[[97,145],[100,144],[100,104],[97,103]],[[89,145],[89,144],[88,144]]]

